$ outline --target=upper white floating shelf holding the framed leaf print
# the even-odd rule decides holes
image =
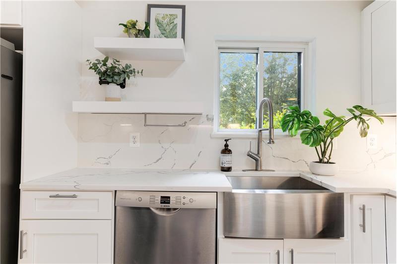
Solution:
[[[94,38],[100,53],[120,60],[185,60],[183,39]]]

